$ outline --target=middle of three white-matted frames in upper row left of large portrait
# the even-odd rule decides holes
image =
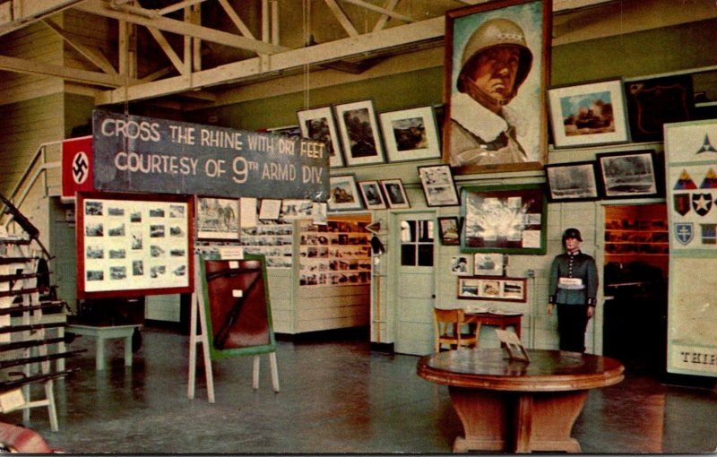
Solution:
[[[336,105],[339,135],[346,152],[346,165],[384,163],[384,144],[376,120],[373,100]]]

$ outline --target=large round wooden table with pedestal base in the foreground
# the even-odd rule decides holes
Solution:
[[[590,389],[618,384],[625,367],[614,358],[528,349],[530,363],[505,349],[457,349],[419,359],[419,376],[445,384],[465,436],[454,453],[564,451]]]

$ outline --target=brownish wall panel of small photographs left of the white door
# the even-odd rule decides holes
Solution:
[[[358,286],[371,282],[367,222],[328,220],[316,225],[298,221],[302,287]]]

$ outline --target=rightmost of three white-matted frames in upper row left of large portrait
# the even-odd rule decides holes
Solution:
[[[431,107],[402,109],[378,115],[389,162],[440,159],[441,142]]]

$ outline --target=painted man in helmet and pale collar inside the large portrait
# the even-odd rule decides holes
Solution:
[[[461,63],[451,98],[451,165],[528,161],[518,140],[524,121],[507,106],[531,71],[523,29],[507,19],[483,22]]]

